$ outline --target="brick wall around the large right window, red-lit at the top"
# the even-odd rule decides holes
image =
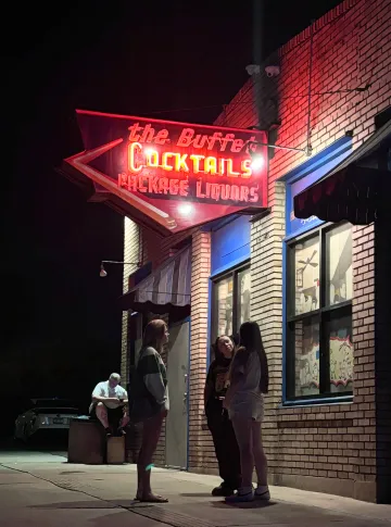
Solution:
[[[357,147],[374,131],[375,115],[391,104],[390,22],[390,0],[345,0],[313,25],[310,142],[314,154],[346,130],[353,130],[354,148]],[[270,97],[279,104],[277,113],[281,125],[277,145],[294,148],[307,145],[310,36],[307,28],[279,50],[281,74],[275,86],[267,86],[267,93],[275,88]],[[264,79],[258,86],[265,87],[265,83]],[[365,89],[349,91],[356,87]],[[327,93],[337,90],[341,91]],[[225,108],[217,123],[237,127],[256,125],[254,100],[254,79],[250,79]],[[265,104],[265,100],[266,96],[261,103]],[[269,111],[269,106],[265,108],[265,112]],[[353,234],[354,402],[278,409],[281,400],[285,188],[276,179],[306,159],[300,152],[276,150],[269,163],[270,214],[252,223],[251,315],[261,325],[270,364],[270,394],[264,424],[270,481],[375,501],[380,466],[384,478],[390,475],[386,460],[390,446],[387,416],[390,393],[386,380],[382,396],[376,392],[375,384],[374,225],[354,227]],[[382,360],[386,364],[384,355]],[[387,364],[389,367],[389,362]],[[379,404],[383,405],[381,431],[376,429],[376,418],[380,418],[381,411]],[[378,455],[376,444],[382,449]]]

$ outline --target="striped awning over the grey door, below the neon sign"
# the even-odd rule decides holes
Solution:
[[[134,289],[121,297],[123,311],[190,315],[191,246],[172,256]]]

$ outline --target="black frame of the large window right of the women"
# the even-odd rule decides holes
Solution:
[[[283,241],[285,248],[285,313],[283,313],[283,400],[282,405],[313,405],[325,403],[351,402],[353,400],[352,391],[335,392],[329,391],[330,386],[330,367],[329,367],[329,347],[327,341],[327,325],[331,322],[331,315],[341,313],[341,318],[349,315],[351,318],[352,331],[351,339],[353,343],[353,319],[352,305],[353,298],[339,302],[337,304],[325,305],[326,283],[327,283],[327,263],[326,263],[326,243],[327,234],[343,225],[350,225],[349,222],[324,223],[305,233],[292,236]],[[352,227],[352,226],[351,226]],[[293,247],[302,241],[318,237],[319,247],[319,306],[314,311],[291,315],[292,291],[294,291],[295,273],[292,256]],[[354,277],[352,277],[354,279]],[[352,291],[353,292],[353,291]],[[295,342],[294,342],[294,323],[308,318],[318,318],[319,324],[319,393],[310,396],[295,396]]]

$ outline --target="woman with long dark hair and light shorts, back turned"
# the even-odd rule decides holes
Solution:
[[[264,417],[264,393],[268,391],[268,368],[260,327],[245,322],[240,327],[240,344],[229,371],[230,386],[225,407],[232,421],[240,450],[242,484],[227,502],[269,500],[267,460],[262,446],[261,426]],[[254,493],[252,475],[255,465],[257,487]]]

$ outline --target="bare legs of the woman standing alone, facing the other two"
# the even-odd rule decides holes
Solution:
[[[141,501],[164,502],[162,497],[152,493],[151,489],[151,463],[156,450],[164,414],[160,413],[146,421],[142,430],[142,446],[137,463],[138,489],[136,498]]]

